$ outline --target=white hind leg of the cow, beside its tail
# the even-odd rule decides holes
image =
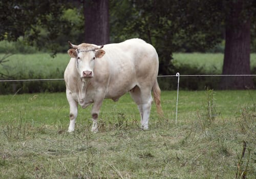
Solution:
[[[151,89],[144,89],[142,91],[138,86],[135,86],[130,91],[130,94],[135,103],[138,105],[138,109],[140,111],[141,128],[147,130],[148,120],[150,118],[151,105],[153,101],[151,96]]]

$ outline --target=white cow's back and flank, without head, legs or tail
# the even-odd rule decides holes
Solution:
[[[151,44],[141,39],[130,39],[106,44],[103,50],[105,55],[95,63],[95,77],[102,78],[102,71],[108,71],[104,72],[107,74],[105,77],[109,77],[106,98],[119,98],[136,85],[152,88],[155,84],[158,55]]]

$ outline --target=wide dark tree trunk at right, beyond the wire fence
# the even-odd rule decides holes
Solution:
[[[223,75],[250,74],[250,18],[242,18],[243,0],[231,3],[226,19]],[[253,88],[251,76],[224,76],[221,89]]]

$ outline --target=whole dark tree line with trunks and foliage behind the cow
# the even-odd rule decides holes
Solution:
[[[63,18],[70,8],[80,12],[84,24]],[[250,74],[255,12],[253,0],[3,0],[0,40],[23,36],[27,43],[57,51],[71,39],[105,44],[139,37],[156,47],[159,73],[166,75],[173,72],[172,52],[204,52],[225,39],[223,74]],[[220,87],[252,88],[253,83],[251,77],[223,77]]]

